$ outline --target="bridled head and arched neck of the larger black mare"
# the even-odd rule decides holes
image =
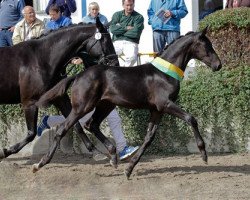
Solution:
[[[45,57],[43,59],[49,63],[50,68],[65,67],[81,51],[97,59],[99,64],[119,65],[111,36],[98,17],[96,24],[62,27],[45,33],[40,40],[33,42],[36,42],[38,52],[44,52],[38,56]]]

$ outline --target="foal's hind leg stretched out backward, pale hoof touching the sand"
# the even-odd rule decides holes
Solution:
[[[49,152],[42,157],[41,161],[38,164],[33,165],[33,172],[34,173],[37,172],[40,168],[42,168],[44,165],[48,164],[51,161],[62,137],[79,120],[79,118],[80,118],[80,115],[77,115],[73,111],[71,111],[71,113],[66,118],[66,120],[59,125],[59,128],[56,132],[56,135],[55,135],[54,140],[53,140],[53,144],[50,147]]]

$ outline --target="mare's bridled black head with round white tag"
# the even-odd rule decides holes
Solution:
[[[96,18],[97,31],[86,45],[86,52],[97,58],[98,64],[119,65],[118,56],[107,28]]]

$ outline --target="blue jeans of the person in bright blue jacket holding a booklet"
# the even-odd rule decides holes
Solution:
[[[180,36],[177,31],[153,31],[153,48],[154,52],[160,52],[164,47]]]

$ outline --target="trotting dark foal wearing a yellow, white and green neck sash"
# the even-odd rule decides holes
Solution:
[[[43,156],[38,164],[33,165],[33,172],[51,160],[59,141],[69,128],[94,107],[96,110],[85,128],[94,133],[109,150],[114,148],[101,133],[100,124],[116,105],[131,109],[148,109],[151,113],[144,143],[125,169],[127,178],[152,142],[165,113],[184,120],[192,127],[202,159],[207,162],[205,143],[196,119],[174,103],[180,90],[180,80],[190,59],[204,62],[213,71],[221,68],[221,61],[206,37],[206,31],[204,29],[202,32],[191,32],[180,37],[167,46],[152,63],[126,68],[96,65],[79,75],[62,80],[45,93],[37,102],[38,106],[46,105],[55,97],[63,95],[69,84],[74,81],[71,89],[72,110],[65,122],[59,126],[48,154]],[[167,71],[167,74],[156,67]],[[112,153],[110,151],[110,154]],[[115,159],[112,163],[117,164]]]

